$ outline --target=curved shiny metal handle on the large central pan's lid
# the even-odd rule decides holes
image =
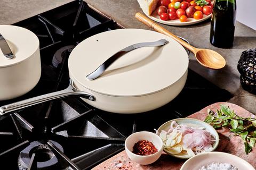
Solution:
[[[121,57],[123,54],[130,52],[133,49],[136,48],[141,48],[141,47],[149,47],[149,46],[162,46],[165,45],[166,43],[168,43],[168,41],[166,39],[161,39],[158,41],[154,41],[154,42],[146,42],[146,43],[137,43],[137,44],[133,44],[131,46],[128,46],[124,49],[119,50],[119,52],[117,52],[116,54],[114,54],[113,56],[111,56],[110,58],[108,58],[108,60],[106,60],[103,64],[101,64],[98,69],[94,70],[92,73],[88,74],[86,76],[86,78],[88,80],[94,80],[97,79],[98,77],[100,77],[100,75],[105,72],[105,70],[111,65],[113,64],[119,57]]]

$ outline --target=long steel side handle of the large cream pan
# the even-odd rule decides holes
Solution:
[[[94,96],[87,94],[84,91],[76,89],[74,87],[73,81],[70,79],[68,88],[66,88],[64,90],[52,92],[50,94],[37,96],[37,97],[21,100],[21,101],[18,101],[16,103],[12,103],[9,105],[1,106],[0,107],[0,115],[4,115],[4,114],[10,113],[10,112],[15,112],[22,108],[34,106],[36,104],[43,103],[45,101],[50,101],[50,100],[59,99],[59,98],[67,97],[67,96],[74,96],[74,95],[83,96],[83,98],[86,98],[91,101],[95,100]]]

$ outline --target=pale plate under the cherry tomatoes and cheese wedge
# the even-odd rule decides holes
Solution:
[[[157,14],[156,10],[151,14],[151,15],[147,15],[150,19],[159,22],[159,23],[163,23],[166,25],[176,25],[176,26],[182,26],[182,25],[192,25],[192,24],[196,24],[199,22],[203,22],[209,18],[211,18],[211,14],[210,15],[203,15],[203,18],[200,20],[196,20],[194,18],[188,18],[187,22],[180,22],[179,19],[176,20],[168,20],[168,21],[164,21],[160,19],[160,16]]]

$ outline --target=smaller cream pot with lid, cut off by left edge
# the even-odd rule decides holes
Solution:
[[[21,27],[0,25],[0,100],[33,89],[41,76],[39,40]]]

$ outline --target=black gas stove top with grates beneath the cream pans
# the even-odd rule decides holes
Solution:
[[[0,105],[65,89],[71,50],[96,33],[121,29],[83,1],[74,1],[15,23],[33,31],[40,41],[42,76],[28,94]],[[186,117],[217,101],[231,98],[195,72],[169,104],[140,114],[100,111],[79,97],[38,104],[0,116],[0,162],[3,169],[91,169],[124,149],[127,136],[154,131],[177,117]]]

